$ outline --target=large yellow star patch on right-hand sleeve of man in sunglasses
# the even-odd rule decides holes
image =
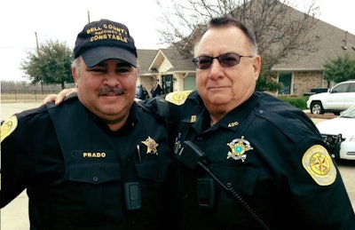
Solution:
[[[325,147],[314,145],[302,157],[304,169],[319,186],[329,186],[336,178],[335,165]]]

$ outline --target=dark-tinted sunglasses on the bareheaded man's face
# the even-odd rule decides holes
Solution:
[[[221,64],[222,67],[234,67],[238,65],[239,62],[241,62],[241,58],[243,57],[253,58],[254,56],[241,56],[236,52],[226,52],[217,57],[209,57],[207,55],[204,55],[194,58],[193,64],[197,68],[208,69],[212,65],[213,59],[218,59],[219,64]]]

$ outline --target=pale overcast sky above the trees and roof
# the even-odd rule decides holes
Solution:
[[[164,1],[164,0],[163,0]],[[296,1],[296,0],[295,0]],[[310,0],[297,0],[304,10]],[[319,19],[355,35],[353,0],[317,0]],[[0,79],[24,81],[20,62],[27,52],[48,40],[66,42],[74,47],[76,35],[90,20],[109,19],[130,29],[138,49],[164,48],[159,43],[156,0],[12,0],[2,1],[0,21]]]

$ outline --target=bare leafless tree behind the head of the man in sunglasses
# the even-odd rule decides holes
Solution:
[[[170,44],[186,57],[201,37],[206,22],[213,17],[230,15],[245,24],[256,36],[258,52],[263,57],[259,90],[272,90],[280,85],[272,79],[272,66],[290,55],[308,55],[319,49],[319,37],[310,31],[319,20],[314,0],[305,13],[298,12],[287,0],[157,0],[162,11],[161,43]],[[264,88],[266,87],[266,88]]]

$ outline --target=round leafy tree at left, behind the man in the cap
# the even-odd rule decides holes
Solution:
[[[61,84],[73,83],[71,62],[73,52],[64,43],[48,41],[41,44],[37,52],[28,52],[27,60],[21,63],[21,69],[31,79],[31,83]]]

